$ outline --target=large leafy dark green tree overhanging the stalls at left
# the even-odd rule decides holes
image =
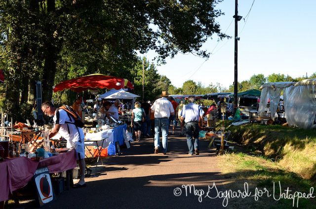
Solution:
[[[46,100],[56,82],[91,72],[133,80],[136,50],[155,50],[162,62],[178,52],[207,57],[206,39],[227,37],[216,23],[219,1],[2,0],[3,103],[15,113],[32,103],[36,80]]]

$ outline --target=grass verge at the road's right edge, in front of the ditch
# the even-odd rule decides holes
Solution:
[[[244,153],[230,153],[219,157],[224,176],[230,182],[224,185],[226,189],[242,191],[243,184],[247,182],[249,191],[254,194],[255,188],[264,190],[270,194],[273,192],[273,182],[280,182],[282,188],[289,187],[292,191],[309,192],[314,186],[313,182],[304,180],[300,176],[286,172],[278,163],[263,157],[249,156]],[[263,195],[257,201],[254,197],[245,199],[232,199],[227,208],[243,209],[288,209],[292,208],[292,200],[276,201],[273,197]],[[300,199],[299,208],[315,209],[315,199]]]

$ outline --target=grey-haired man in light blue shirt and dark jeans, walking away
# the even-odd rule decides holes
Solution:
[[[181,113],[181,121],[185,123],[186,126],[186,134],[187,134],[187,144],[189,148],[189,155],[193,154],[193,137],[194,137],[194,149],[196,155],[198,155],[198,134],[199,134],[199,127],[198,122],[199,120],[203,121],[203,114],[204,111],[202,108],[194,104],[196,98],[194,96],[188,97],[189,104],[186,104],[182,108]]]

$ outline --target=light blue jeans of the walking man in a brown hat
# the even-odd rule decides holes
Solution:
[[[168,145],[168,127],[169,121],[168,118],[155,118],[155,138],[154,144],[155,148],[160,147],[159,143],[159,136],[160,133],[162,134],[162,147],[163,152],[167,152],[167,145]]]

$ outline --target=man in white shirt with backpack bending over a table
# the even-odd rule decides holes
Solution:
[[[74,122],[75,119],[66,110],[57,109],[50,102],[41,104],[42,112],[53,117],[54,128],[49,134],[49,139],[59,133],[67,140],[67,148],[76,150],[76,157],[79,162],[80,180],[74,185],[75,188],[86,186],[84,182],[85,161],[84,161],[84,134],[81,128],[77,127]]]

